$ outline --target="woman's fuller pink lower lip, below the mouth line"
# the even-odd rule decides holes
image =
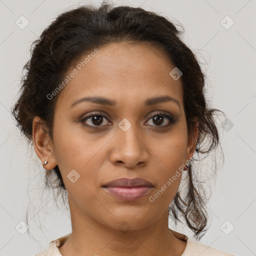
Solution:
[[[136,186],[136,187],[119,187],[119,186],[106,186],[110,194],[114,197],[125,200],[134,201],[145,196],[152,187],[149,186]]]

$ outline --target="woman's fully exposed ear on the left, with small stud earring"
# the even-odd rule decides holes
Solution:
[[[34,150],[41,160],[42,166],[47,170],[53,169],[57,165],[53,154],[53,144],[39,116],[33,118],[32,139]],[[43,165],[44,161],[48,161],[47,164]]]

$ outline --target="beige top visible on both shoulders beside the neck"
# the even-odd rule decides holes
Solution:
[[[183,251],[182,255],[180,255],[180,256],[199,256],[199,255],[200,256],[234,256],[232,254],[228,254],[221,250],[218,250],[218,249],[209,247],[207,245],[195,242],[195,241],[189,239],[186,235],[178,233],[174,230],[170,229],[170,231],[178,239],[186,241],[185,250]],[[56,240],[52,240],[49,243],[47,250],[43,250],[34,256],[62,256],[58,247],[65,243],[65,241],[68,239],[70,234],[59,237]]]

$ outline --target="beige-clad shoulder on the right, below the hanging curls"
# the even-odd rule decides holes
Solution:
[[[215,249],[208,245],[187,239],[186,248],[181,256],[234,256],[227,252]]]

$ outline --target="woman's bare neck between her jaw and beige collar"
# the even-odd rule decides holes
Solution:
[[[172,234],[166,221],[156,221],[137,230],[120,231],[91,219],[81,224],[72,222],[72,233],[59,251],[63,256],[177,256],[183,253],[185,246],[186,242]]]

